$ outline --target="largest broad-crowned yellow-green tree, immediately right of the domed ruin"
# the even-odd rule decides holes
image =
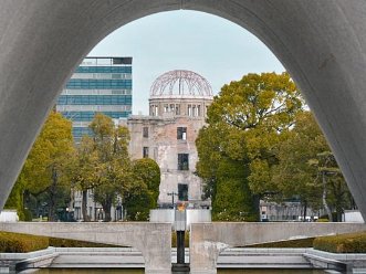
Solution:
[[[238,191],[248,191],[244,197],[252,197],[250,202],[255,203],[253,208],[259,218],[259,198],[273,191],[268,186],[271,167],[278,164],[276,144],[293,125],[295,115],[302,112],[302,105],[303,99],[287,73],[248,74],[222,87],[208,109],[208,126],[197,139],[197,172],[208,183],[206,189],[212,192],[213,211],[220,162],[231,160],[248,170],[241,181],[249,188]]]

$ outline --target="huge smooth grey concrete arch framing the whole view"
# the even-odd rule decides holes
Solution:
[[[121,25],[176,9],[227,18],[274,52],[314,110],[366,220],[363,0],[2,0],[0,209],[79,62]]]

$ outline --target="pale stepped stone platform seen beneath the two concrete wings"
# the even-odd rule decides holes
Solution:
[[[186,250],[187,262],[189,251]],[[171,249],[171,263],[176,250]],[[0,253],[0,273],[32,268],[144,268],[143,254],[132,247],[49,247],[30,253]],[[228,249],[218,268],[321,268],[356,273],[366,268],[366,254],[334,254],[313,249]]]

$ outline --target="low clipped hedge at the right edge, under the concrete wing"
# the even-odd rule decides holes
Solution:
[[[314,249],[333,253],[366,253],[366,232],[316,238]]]

